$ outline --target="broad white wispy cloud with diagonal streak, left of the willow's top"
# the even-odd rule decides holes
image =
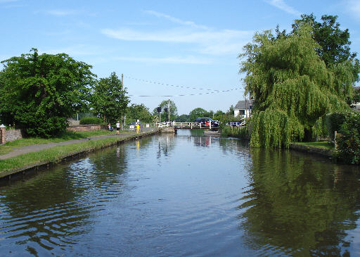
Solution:
[[[237,55],[243,49],[243,46],[251,41],[254,33],[253,31],[245,30],[215,30],[207,26],[198,25],[193,21],[184,21],[164,13],[156,11],[145,12],[181,26],[167,30],[134,30],[127,27],[120,29],[106,28],[101,30],[101,33],[107,37],[124,41],[191,44],[193,51],[211,55]]]

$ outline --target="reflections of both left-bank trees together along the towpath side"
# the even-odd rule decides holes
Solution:
[[[127,183],[124,145],[91,156],[1,189],[1,254],[47,256],[51,251],[61,256],[81,242],[96,213]]]

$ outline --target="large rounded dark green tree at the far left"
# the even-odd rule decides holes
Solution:
[[[68,118],[86,108],[95,75],[67,54],[22,54],[2,61],[0,116],[30,136],[63,132]]]

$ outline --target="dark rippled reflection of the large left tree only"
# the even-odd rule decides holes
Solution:
[[[2,254],[20,256],[27,251],[41,256],[41,249],[77,244],[72,235],[86,233],[84,225],[91,210],[78,200],[86,189],[69,183],[71,180],[61,167],[1,190],[1,205],[6,206],[1,208]],[[13,240],[15,245],[4,249]]]

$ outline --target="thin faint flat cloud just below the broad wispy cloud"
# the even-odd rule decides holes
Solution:
[[[164,57],[164,58],[148,58],[148,57],[130,57],[130,56],[122,56],[115,57],[115,60],[120,61],[134,61],[140,63],[181,63],[181,64],[210,64],[212,60],[210,58],[199,58],[195,56],[172,56],[172,57]]]

